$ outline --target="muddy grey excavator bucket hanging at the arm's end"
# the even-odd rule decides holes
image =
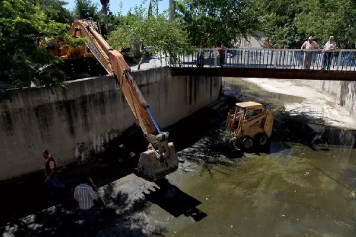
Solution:
[[[163,178],[178,169],[178,158],[173,142],[168,142],[169,156],[158,158],[155,151],[147,150],[141,153],[138,166],[134,173],[150,182]]]

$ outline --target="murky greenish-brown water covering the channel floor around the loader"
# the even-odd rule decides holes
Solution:
[[[156,202],[146,211],[152,223],[175,237],[355,236],[354,133],[284,111],[303,98],[238,79],[223,85],[226,96],[276,111],[266,153],[224,155],[212,151],[213,136],[180,151],[184,174],[169,177],[163,191],[163,202],[176,209]]]

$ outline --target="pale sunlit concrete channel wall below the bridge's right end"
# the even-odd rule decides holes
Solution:
[[[356,120],[356,81],[298,80],[298,83],[336,97]]]

